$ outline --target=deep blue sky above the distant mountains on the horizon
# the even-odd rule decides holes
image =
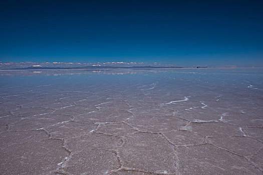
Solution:
[[[262,0],[2,0],[0,60],[263,66]]]

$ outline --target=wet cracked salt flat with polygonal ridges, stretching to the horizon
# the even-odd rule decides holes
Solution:
[[[263,173],[261,68],[0,75],[0,174]]]

